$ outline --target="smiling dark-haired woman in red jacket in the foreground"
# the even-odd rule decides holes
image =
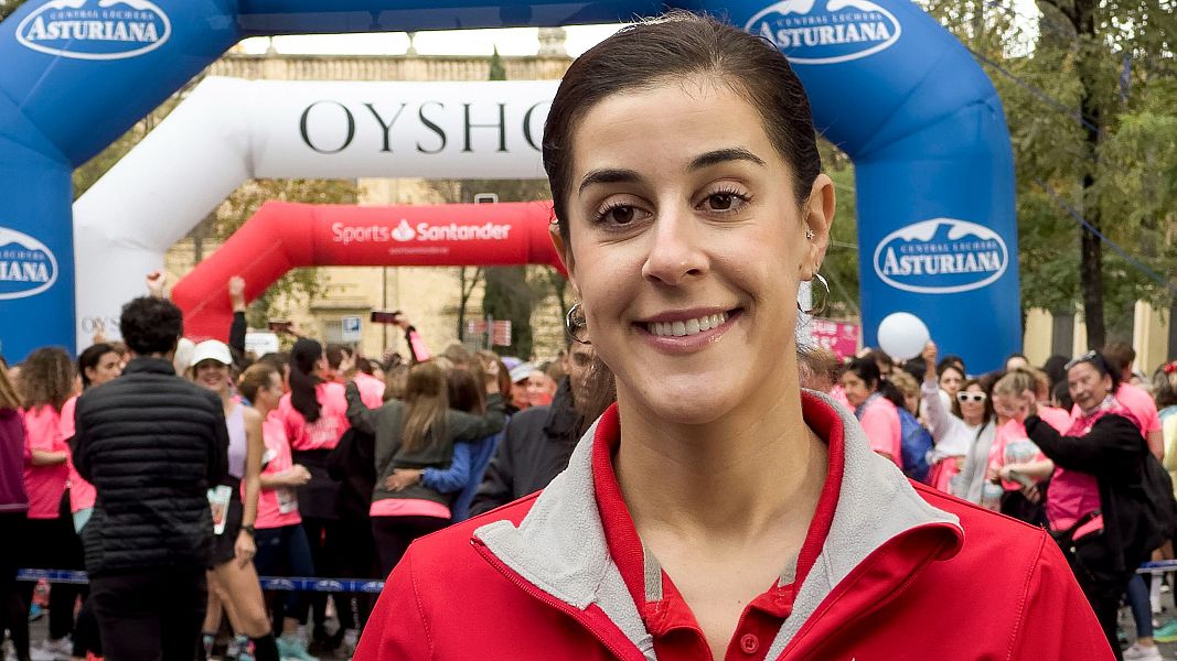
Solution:
[[[1111,657],[1044,533],[913,486],[800,388],[834,195],[769,41],[623,29],[544,135],[577,338],[617,401],[541,494],[419,540],[355,659]]]

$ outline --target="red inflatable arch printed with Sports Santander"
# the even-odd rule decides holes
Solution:
[[[185,336],[228,340],[227,283],[246,300],[304,266],[513,266],[563,271],[548,235],[552,203],[357,207],[266,202],[172,291]]]

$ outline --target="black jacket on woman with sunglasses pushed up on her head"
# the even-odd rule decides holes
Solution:
[[[1038,416],[1028,418],[1025,426],[1030,440],[1056,466],[1096,478],[1104,534],[1095,545],[1102,548],[1088,552],[1093,554],[1088,569],[1100,576],[1135,572],[1145,559],[1125,556],[1125,550],[1142,546],[1138,540],[1148,533],[1141,528],[1142,506],[1136,495],[1149,452],[1141,430],[1131,420],[1113,414],[1097,420],[1085,436],[1064,436]],[[1063,552],[1071,557],[1070,548]]]

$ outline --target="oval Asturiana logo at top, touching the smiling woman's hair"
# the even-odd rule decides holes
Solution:
[[[752,16],[744,29],[802,65],[865,58],[890,47],[903,32],[895,14],[870,0],[782,0]]]

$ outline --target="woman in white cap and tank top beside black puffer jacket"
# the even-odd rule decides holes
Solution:
[[[210,489],[213,507],[213,554],[210,562],[210,596],[220,597],[237,633],[239,653],[250,652],[259,661],[278,661],[278,646],[266,614],[261,583],[253,567],[257,553],[254,522],[258,518],[258,493],[261,489],[261,415],[241,403],[233,392],[230,368],[233,355],[218,340],[205,340],[192,352],[192,376],[195,383],[220,396],[228,429],[228,474]],[[218,516],[218,513],[221,516]],[[217,603],[215,599],[210,600]],[[219,608],[210,608],[205,619],[205,648],[211,647],[219,625]]]

